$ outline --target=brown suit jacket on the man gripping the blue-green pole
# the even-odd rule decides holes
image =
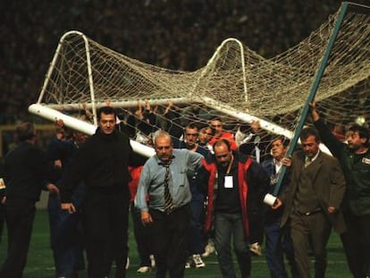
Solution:
[[[304,164],[305,155],[303,151],[300,150],[294,153],[290,169],[290,184],[280,197],[284,204],[282,226],[288,223],[293,199],[299,184],[299,175]],[[309,171],[314,177],[312,180],[312,188],[315,191],[321,208],[328,217],[328,221],[332,223],[333,228],[337,232],[344,232],[346,226],[341,211],[337,211],[332,215],[327,212],[328,206],[334,206],[337,209],[341,207],[341,200],[344,195],[346,184],[343,173],[341,173],[341,165],[337,158],[320,152],[315,161],[308,167],[310,167]]]

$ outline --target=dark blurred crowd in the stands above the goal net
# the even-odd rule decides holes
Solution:
[[[366,0],[357,0],[366,4]],[[340,0],[2,1],[0,124],[27,120],[63,33],[78,29],[123,55],[169,69],[204,66],[225,38],[271,57],[295,46]]]

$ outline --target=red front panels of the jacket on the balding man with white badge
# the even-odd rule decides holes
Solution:
[[[202,164],[205,167],[206,171],[209,173],[208,179],[208,190],[207,190],[207,197],[208,197],[208,205],[206,207],[206,222],[205,222],[205,232],[209,232],[212,227],[213,222],[213,214],[214,214],[214,199],[216,198],[214,194],[214,179],[216,173],[216,164],[207,163],[206,159],[202,159]],[[241,214],[243,216],[243,228],[244,234],[246,237],[249,235],[249,223],[248,223],[248,208],[247,208],[247,199],[248,199],[248,184],[246,181],[246,173],[248,172],[248,168],[252,164],[252,159],[250,157],[247,158],[245,162],[239,161],[238,163],[238,183],[239,183],[239,196],[240,196],[240,207],[241,207]]]

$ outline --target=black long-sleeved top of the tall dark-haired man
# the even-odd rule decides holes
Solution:
[[[130,198],[128,166],[131,161],[132,148],[126,134],[114,131],[105,135],[97,129],[77,151],[63,177],[62,202],[71,202],[72,191],[80,181],[84,181],[90,190],[124,193]]]

